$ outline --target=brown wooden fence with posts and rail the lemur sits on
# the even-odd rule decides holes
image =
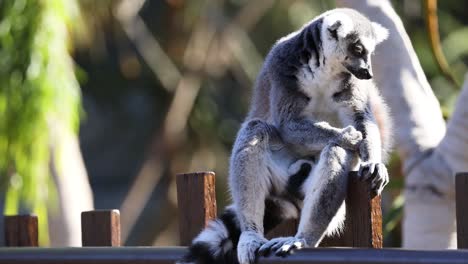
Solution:
[[[177,175],[180,238],[182,245],[216,217],[215,177],[212,172]],[[350,175],[345,232],[327,238],[323,248],[304,249],[287,258],[261,258],[259,263],[467,263],[468,264],[468,173],[456,176],[458,250],[415,251],[382,247],[380,197],[371,197],[368,185]],[[5,216],[5,248],[0,264],[161,264],[174,263],[185,247],[120,247],[118,210],[83,212],[81,248],[38,248],[35,216]],[[268,236],[295,231],[294,221],[283,224]],[[346,246],[347,248],[325,248]]]

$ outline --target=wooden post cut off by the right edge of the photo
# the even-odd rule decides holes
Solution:
[[[457,210],[457,245],[468,248],[468,172],[455,176]]]

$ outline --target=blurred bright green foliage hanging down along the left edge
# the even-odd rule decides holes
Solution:
[[[39,217],[47,241],[53,197],[50,133],[57,123],[76,131],[80,91],[68,52],[73,0],[0,1],[0,179],[5,214],[26,207]],[[76,22],[74,22],[76,23]]]

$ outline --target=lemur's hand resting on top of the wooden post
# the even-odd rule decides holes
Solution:
[[[387,167],[383,163],[363,162],[359,168],[358,176],[362,180],[371,182],[371,190],[380,195],[389,182]]]

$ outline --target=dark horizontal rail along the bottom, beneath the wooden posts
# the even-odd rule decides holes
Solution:
[[[169,264],[186,248],[88,247],[0,248],[0,264]],[[259,264],[468,264],[468,250],[303,249],[286,258],[260,258]]]

